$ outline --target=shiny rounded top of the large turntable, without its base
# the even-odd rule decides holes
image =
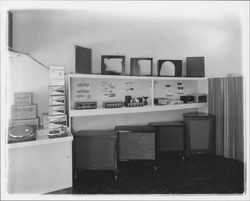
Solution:
[[[9,135],[13,138],[24,138],[33,134],[33,128],[28,125],[20,125],[9,128]]]

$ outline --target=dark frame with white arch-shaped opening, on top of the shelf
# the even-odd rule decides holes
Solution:
[[[182,77],[182,60],[158,60],[157,74],[163,77]]]

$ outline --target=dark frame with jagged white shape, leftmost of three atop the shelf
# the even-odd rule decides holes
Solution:
[[[125,56],[102,55],[101,73],[103,75],[125,75]]]

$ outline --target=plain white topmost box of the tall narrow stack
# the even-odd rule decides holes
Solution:
[[[50,66],[50,84],[64,85],[64,67]]]

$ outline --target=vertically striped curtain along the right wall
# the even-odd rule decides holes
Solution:
[[[208,111],[216,117],[216,154],[243,161],[243,77],[211,78]]]

